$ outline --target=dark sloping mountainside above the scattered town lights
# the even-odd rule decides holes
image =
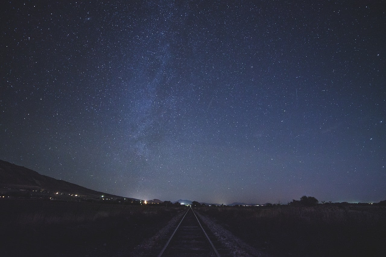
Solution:
[[[13,187],[23,186],[24,188],[40,188],[49,191],[76,193],[95,197],[103,195],[110,198],[123,198],[122,196],[95,191],[64,180],[41,175],[32,169],[2,160],[0,160],[0,184],[3,184],[3,187],[6,185]]]

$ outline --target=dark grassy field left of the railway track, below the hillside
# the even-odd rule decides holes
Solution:
[[[1,256],[127,256],[184,209],[0,200]]]

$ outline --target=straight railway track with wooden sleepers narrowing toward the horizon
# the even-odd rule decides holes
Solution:
[[[158,257],[161,256],[220,257],[220,254],[190,207],[159,253]]]

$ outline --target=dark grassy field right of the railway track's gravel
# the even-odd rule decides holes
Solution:
[[[208,206],[198,211],[273,256],[386,256],[383,206]]]

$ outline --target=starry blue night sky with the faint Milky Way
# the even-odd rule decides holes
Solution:
[[[0,159],[143,200],[385,200],[385,10],[4,1]]]

